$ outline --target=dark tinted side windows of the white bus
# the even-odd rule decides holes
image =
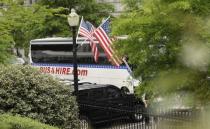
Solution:
[[[31,44],[31,59],[33,63],[64,64],[73,63],[72,44]],[[105,54],[99,49],[98,63],[110,65]],[[78,64],[97,64],[94,61],[89,44],[77,46]]]

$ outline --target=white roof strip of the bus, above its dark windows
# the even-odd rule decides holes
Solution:
[[[72,38],[53,37],[53,38],[42,38],[34,39],[30,41],[30,44],[72,44]],[[96,41],[98,43],[98,41]],[[85,37],[78,37],[77,44],[89,44],[89,40]]]

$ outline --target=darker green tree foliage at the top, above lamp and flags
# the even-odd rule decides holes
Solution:
[[[67,9],[60,14],[68,15],[71,8],[75,8],[80,16],[93,23],[101,23],[102,18],[107,17],[114,10],[113,6],[107,3],[97,3],[96,0],[38,0],[41,5],[47,5],[49,8]]]

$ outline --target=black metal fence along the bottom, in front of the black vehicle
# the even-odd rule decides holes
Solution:
[[[198,111],[192,109],[169,110],[160,108],[155,111],[148,109],[131,111],[103,106],[82,106],[83,108],[91,107],[94,109],[96,119],[91,120],[87,116],[81,115],[81,129],[196,129],[198,126],[195,124]],[[104,117],[106,115],[108,118]]]

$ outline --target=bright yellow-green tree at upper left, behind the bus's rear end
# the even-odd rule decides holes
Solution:
[[[46,37],[45,21],[57,10],[44,6],[23,6],[22,0],[2,0],[0,2],[0,43],[2,44],[1,63],[9,60],[12,48],[28,50],[29,41],[34,38]],[[59,11],[59,10],[58,10]]]

